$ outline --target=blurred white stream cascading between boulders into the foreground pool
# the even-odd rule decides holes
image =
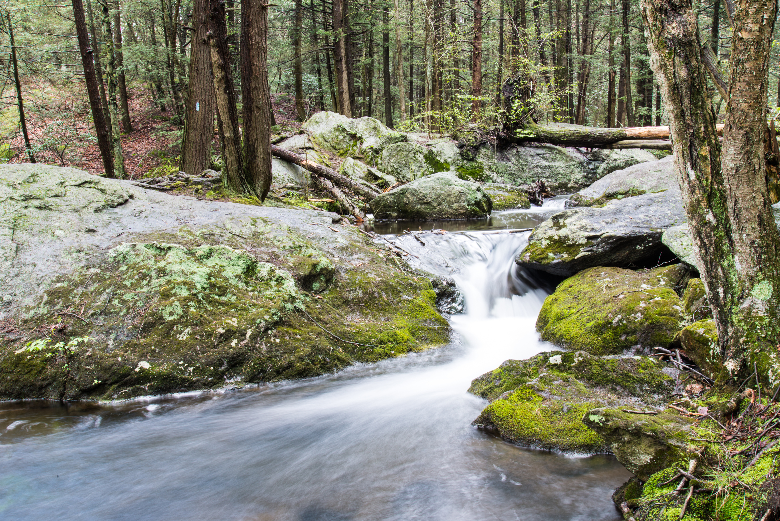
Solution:
[[[388,236],[452,276],[466,313],[449,346],[236,392],[116,405],[0,402],[0,517],[28,520],[555,521],[622,519],[610,455],[522,448],[473,427],[470,381],[552,349],[534,329],[551,288],[516,269],[562,199],[484,222]],[[378,223],[398,234],[410,223]]]

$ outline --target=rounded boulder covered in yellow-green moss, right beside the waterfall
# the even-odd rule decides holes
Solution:
[[[682,327],[681,264],[652,270],[590,268],[561,282],[537,317],[541,338],[594,355],[667,347]]]

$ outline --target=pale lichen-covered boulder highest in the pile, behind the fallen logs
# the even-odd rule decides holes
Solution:
[[[301,128],[314,144],[342,158],[361,156],[374,161],[388,145],[406,141],[406,134],[389,129],[378,119],[350,119],[329,111],[312,115]]]

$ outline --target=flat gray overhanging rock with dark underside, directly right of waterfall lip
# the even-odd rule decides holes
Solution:
[[[663,232],[683,222],[679,190],[572,208],[538,225],[515,261],[565,277],[596,266],[627,267],[657,254]]]

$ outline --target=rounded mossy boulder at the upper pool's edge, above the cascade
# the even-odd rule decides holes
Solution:
[[[488,217],[493,204],[477,183],[449,172],[416,179],[371,200],[378,219],[467,219]]]

